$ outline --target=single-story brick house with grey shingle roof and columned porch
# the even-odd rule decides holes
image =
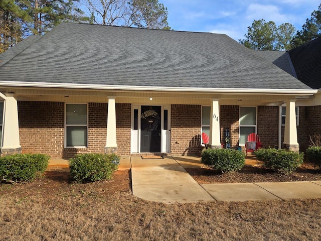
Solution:
[[[2,155],[198,155],[225,129],[298,150],[318,91],[271,58],[223,34],[60,24],[0,55]]]

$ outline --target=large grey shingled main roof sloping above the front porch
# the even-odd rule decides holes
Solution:
[[[310,90],[227,35],[71,23],[0,66],[0,76],[0,85]]]

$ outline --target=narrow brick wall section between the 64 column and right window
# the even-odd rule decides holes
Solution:
[[[231,148],[239,145],[239,112],[238,105],[220,106],[221,142],[225,143],[225,129],[230,129]]]

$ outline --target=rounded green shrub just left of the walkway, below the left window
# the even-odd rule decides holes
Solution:
[[[119,157],[115,154],[79,154],[69,161],[70,175],[78,182],[110,179],[118,168],[117,160],[119,161]]]

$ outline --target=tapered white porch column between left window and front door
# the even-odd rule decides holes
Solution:
[[[117,153],[115,97],[108,97],[106,153]]]

